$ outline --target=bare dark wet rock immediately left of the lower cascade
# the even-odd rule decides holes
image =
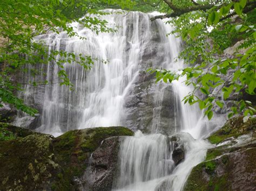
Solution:
[[[93,152],[91,164],[85,174],[84,189],[111,190],[118,166],[120,137],[110,137]]]

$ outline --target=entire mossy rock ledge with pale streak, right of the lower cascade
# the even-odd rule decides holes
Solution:
[[[256,120],[234,117],[208,140],[217,144],[192,169],[184,190],[255,190]]]

